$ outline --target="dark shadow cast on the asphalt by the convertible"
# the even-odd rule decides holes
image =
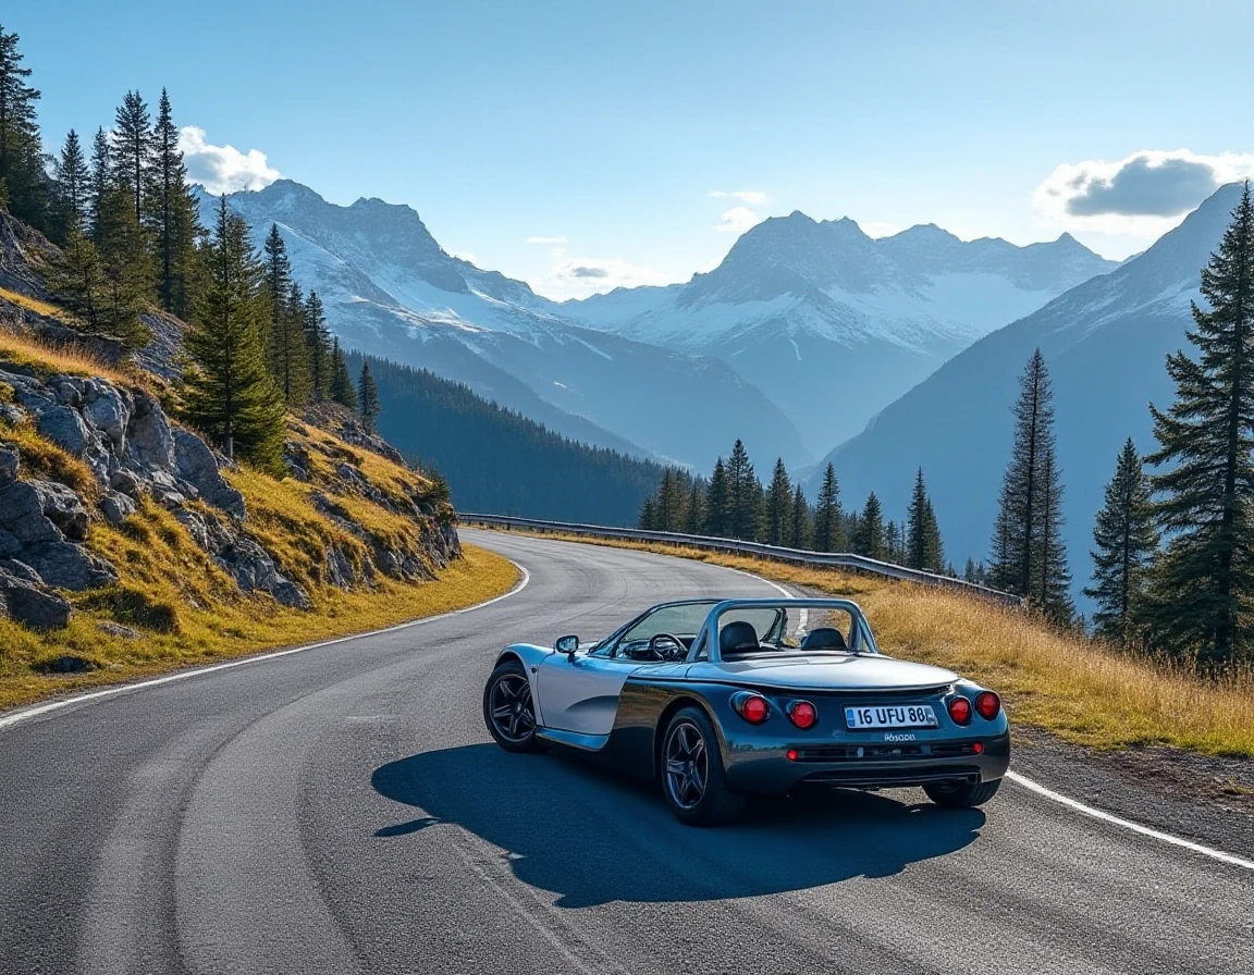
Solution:
[[[890,876],[963,848],[984,823],[979,810],[900,801],[917,792],[836,791],[757,801],[730,826],[693,828],[671,817],[651,783],[494,744],[390,762],[371,785],[423,813],[375,836],[435,835],[455,823],[504,850],[519,880],[559,894],[566,907],[750,897]]]

